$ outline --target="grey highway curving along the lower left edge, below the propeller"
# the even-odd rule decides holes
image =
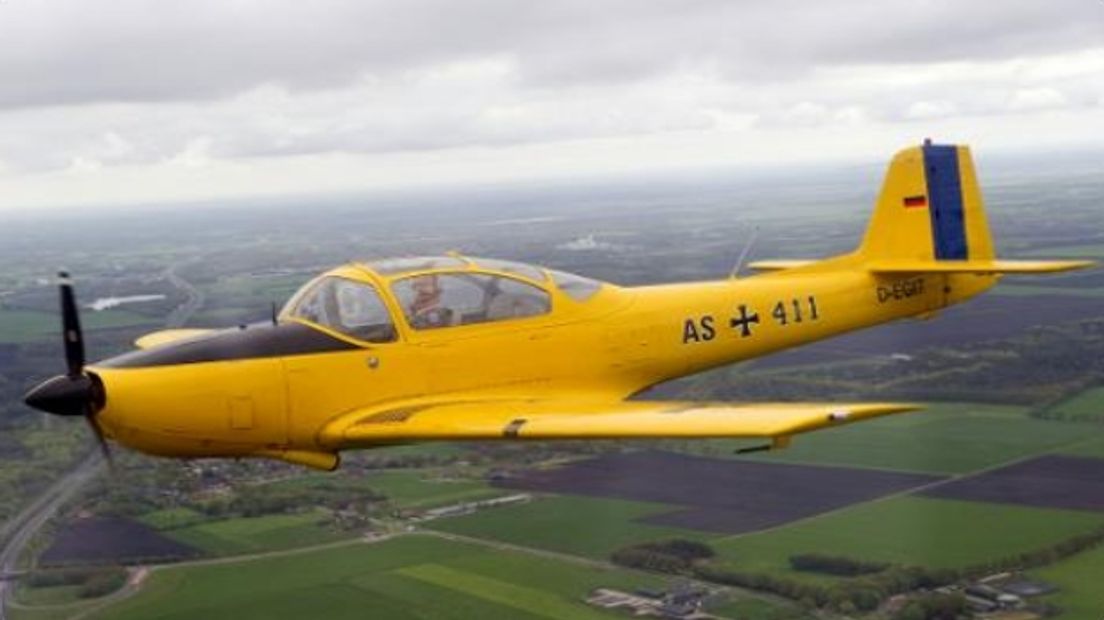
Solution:
[[[0,573],[18,568],[19,557],[39,528],[50,520],[57,509],[70,500],[88,480],[99,473],[104,459],[96,450],[72,471],[54,482],[23,512],[10,520],[3,530],[3,548],[0,549]],[[8,617],[8,599],[15,588],[11,580],[0,581],[0,620]]]

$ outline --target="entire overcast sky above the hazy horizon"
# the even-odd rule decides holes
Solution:
[[[0,0],[0,209],[1104,145],[1104,2]]]

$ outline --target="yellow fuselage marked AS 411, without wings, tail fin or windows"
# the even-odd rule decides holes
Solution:
[[[478,259],[476,259],[478,260]],[[531,316],[420,329],[396,281],[350,265],[323,277],[379,291],[393,318],[368,342],[295,314],[221,330],[91,366],[109,395],[99,418],[146,452],[199,456],[318,451],[320,430],[355,409],[468,394],[619,399],[648,386],[904,317],[923,316],[992,286],[995,276],[875,276],[841,256],[758,276],[703,282],[602,285],[576,299],[551,272],[471,263],[463,275],[518,278],[546,291]],[[310,287],[305,287],[309,289]],[[410,300],[407,300],[410,301]],[[300,301],[301,303],[301,301]]]

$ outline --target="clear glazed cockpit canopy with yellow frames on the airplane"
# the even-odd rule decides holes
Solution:
[[[328,274],[291,297],[282,313],[364,342],[413,330],[519,320],[551,313],[558,293],[585,302],[603,282],[523,263],[461,256],[357,264],[357,277]],[[361,278],[359,276],[365,276]]]

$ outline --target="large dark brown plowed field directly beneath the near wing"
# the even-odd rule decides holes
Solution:
[[[671,452],[599,457],[499,487],[682,506],[647,523],[737,534],[782,525],[940,480],[938,477],[709,459]]]

